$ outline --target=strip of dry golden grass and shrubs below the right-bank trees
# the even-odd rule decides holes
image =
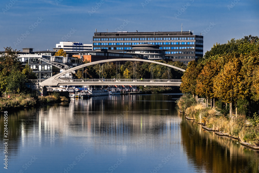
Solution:
[[[244,115],[232,118],[220,114],[219,109],[204,108],[197,104],[191,95],[183,95],[177,100],[177,106],[195,122],[203,124],[215,131],[227,133],[229,136],[239,138],[241,142],[248,142],[259,146],[258,116],[249,119]]]

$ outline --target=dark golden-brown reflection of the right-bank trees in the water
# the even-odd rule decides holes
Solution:
[[[258,172],[258,151],[237,140],[207,132],[202,126],[183,119],[182,144],[188,163],[201,172]]]

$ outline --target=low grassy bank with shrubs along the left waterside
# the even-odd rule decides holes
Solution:
[[[47,103],[58,103],[62,101],[67,101],[64,96],[60,96],[58,93],[53,93],[48,96],[38,96],[35,94],[11,94],[10,99],[6,97],[0,98],[0,111],[19,109],[24,107],[33,107],[38,104]]]

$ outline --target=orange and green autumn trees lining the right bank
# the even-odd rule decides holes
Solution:
[[[208,99],[218,99],[239,110],[251,113],[251,104],[259,101],[259,38],[245,36],[225,44],[214,44],[198,62],[191,61],[182,76],[180,89]],[[212,102],[212,101],[211,101]],[[232,103],[235,103],[232,105]],[[211,103],[212,104],[212,103]]]

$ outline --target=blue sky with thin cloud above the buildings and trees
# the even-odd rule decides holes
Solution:
[[[202,33],[205,53],[216,42],[259,36],[258,8],[258,0],[1,0],[0,50],[52,50],[65,40],[91,44],[95,29],[181,31],[183,23],[183,31]]]

